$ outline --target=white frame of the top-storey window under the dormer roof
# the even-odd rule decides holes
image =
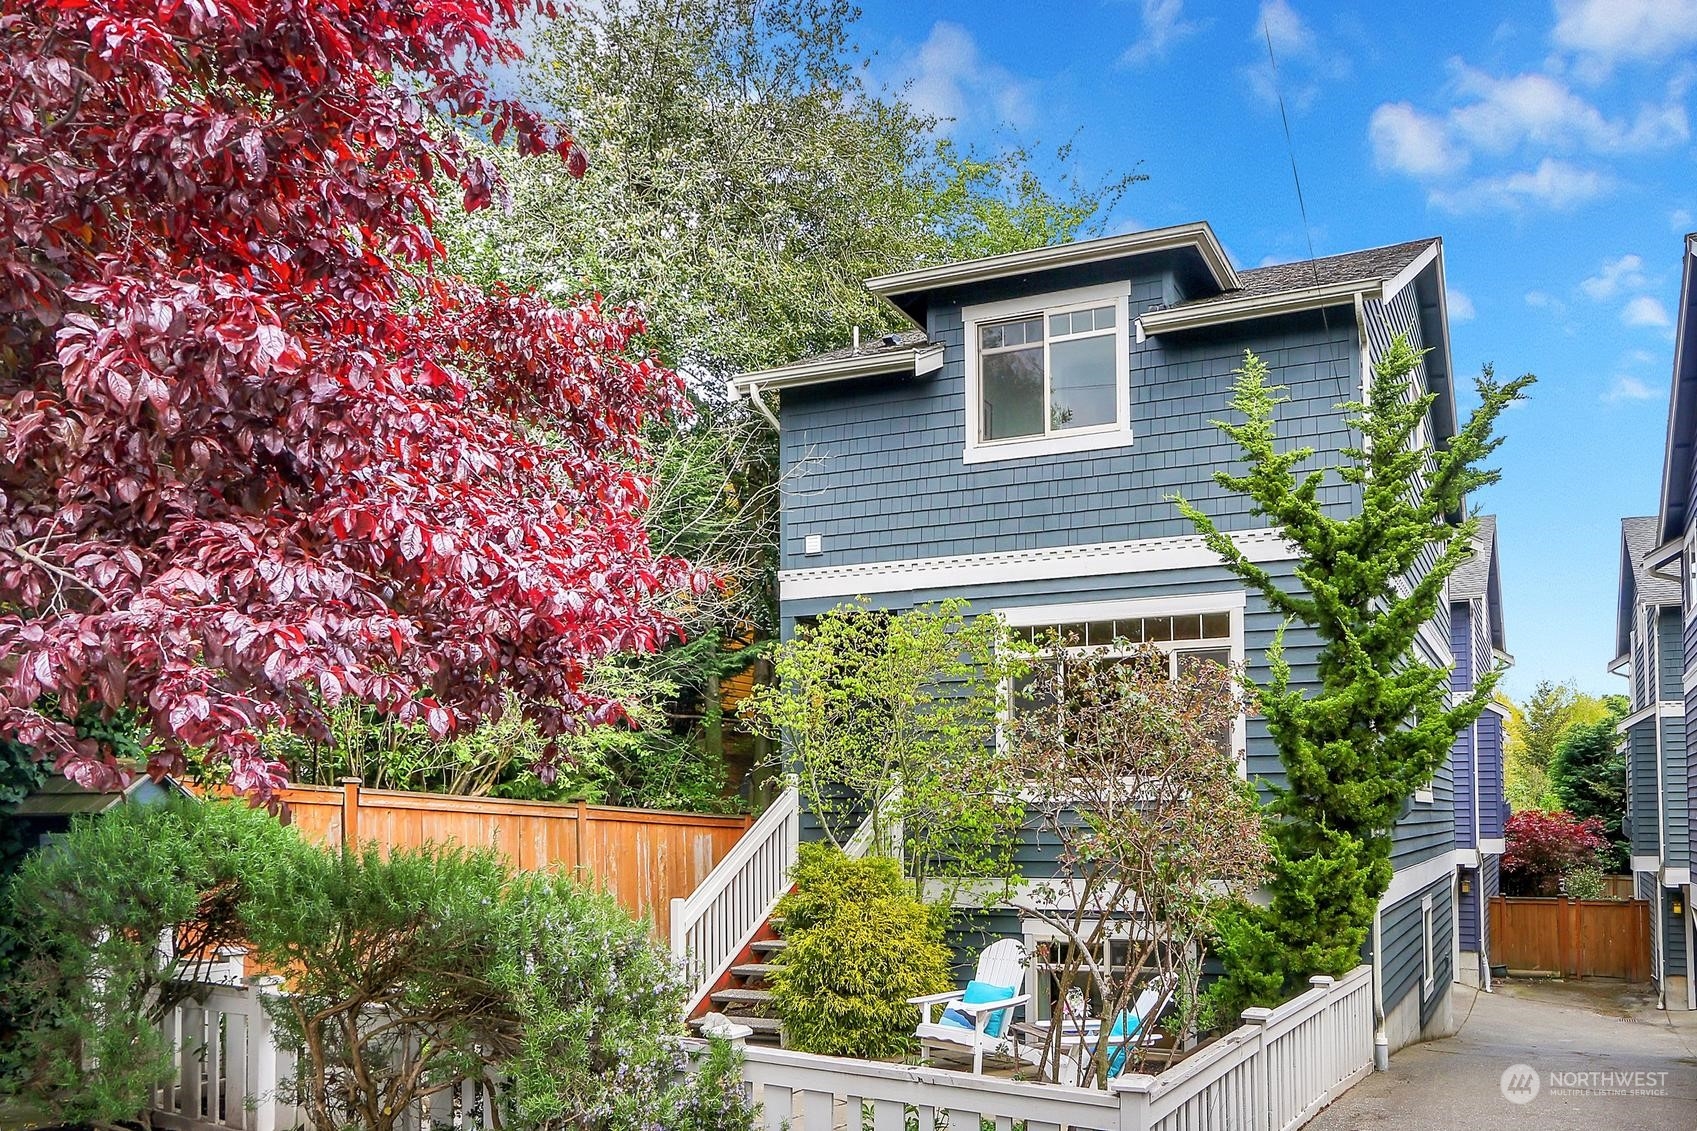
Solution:
[[[1069,452],[1101,452],[1106,448],[1123,448],[1132,443],[1132,329],[1130,329],[1132,284],[1113,282],[1095,287],[1076,287],[1073,290],[1056,290],[1050,294],[1028,295],[1023,299],[1005,299],[1001,302],[981,302],[961,309],[964,323],[962,345],[966,348],[966,450],[964,464],[988,464],[991,460],[1027,459],[1032,455],[1062,455]],[[1069,428],[1050,431],[1042,436],[1017,436],[1008,440],[979,438],[979,406],[983,404],[983,382],[979,379],[977,328],[986,323],[1001,323],[1013,318],[1044,319],[1044,374],[1047,387],[1049,372],[1049,316],[1067,314],[1071,311],[1088,311],[1098,306],[1113,306],[1113,406],[1112,425],[1093,428]],[[1047,413],[1047,406],[1045,406]]]

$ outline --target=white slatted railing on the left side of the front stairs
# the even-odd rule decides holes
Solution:
[[[691,987],[686,1016],[753,941],[784,892],[801,841],[801,796],[784,790],[687,898],[672,900],[672,958]]]

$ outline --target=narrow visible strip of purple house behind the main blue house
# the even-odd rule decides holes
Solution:
[[[1468,695],[1493,667],[1512,664],[1502,630],[1502,579],[1497,564],[1497,516],[1480,516],[1473,557],[1449,577],[1449,688]],[[1495,703],[1456,735],[1449,754],[1454,786],[1456,982],[1490,985],[1490,900],[1502,890],[1504,825],[1502,739],[1507,712]],[[1468,859],[1468,852],[1475,852]]]

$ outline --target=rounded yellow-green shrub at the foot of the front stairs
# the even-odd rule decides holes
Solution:
[[[910,997],[950,988],[942,914],[894,861],[804,846],[796,890],[777,905],[789,946],[772,971],[784,1038],[804,1053],[898,1056],[913,1049]]]

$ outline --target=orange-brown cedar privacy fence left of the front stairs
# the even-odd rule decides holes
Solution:
[[[691,895],[750,825],[748,817],[613,805],[504,802],[446,793],[290,786],[290,822],[319,844],[417,847],[455,841],[492,847],[516,868],[575,868],[669,939],[672,900]]]

